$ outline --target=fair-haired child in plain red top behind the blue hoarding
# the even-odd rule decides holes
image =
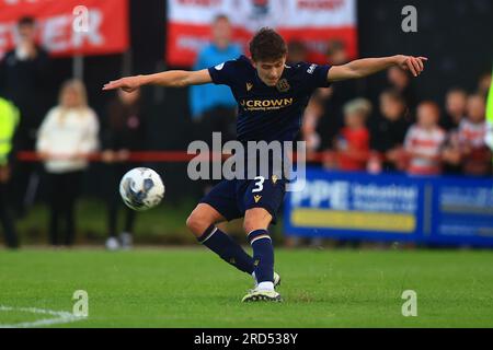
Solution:
[[[366,170],[370,135],[365,124],[370,113],[371,103],[365,98],[356,98],[344,105],[345,126],[339,131],[334,147],[337,151],[337,168]]]

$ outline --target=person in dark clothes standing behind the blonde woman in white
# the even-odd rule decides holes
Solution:
[[[18,22],[18,34],[15,48],[7,52],[0,62],[0,94],[12,101],[22,116],[15,149],[32,151],[36,130],[48,107],[49,59],[46,51],[36,45],[33,18],[22,18]],[[14,164],[12,199],[19,215],[25,213],[27,184],[31,178],[37,177],[34,170],[32,163]]]

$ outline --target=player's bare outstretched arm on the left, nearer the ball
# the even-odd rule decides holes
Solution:
[[[133,92],[142,85],[160,85],[167,88],[184,88],[190,85],[202,85],[211,83],[209,71],[207,69],[197,71],[169,70],[161,73],[149,75],[126,77],[104,84],[103,90],[122,89],[126,92]]]

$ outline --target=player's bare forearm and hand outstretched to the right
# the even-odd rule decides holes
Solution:
[[[395,55],[380,58],[363,58],[348,62],[343,66],[333,66],[329,70],[328,80],[330,82],[347,79],[357,79],[371,75],[392,66],[399,66],[404,70],[409,70],[414,77],[421,74],[424,70],[426,57],[413,57],[404,55]]]

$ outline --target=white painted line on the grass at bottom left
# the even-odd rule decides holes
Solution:
[[[50,326],[57,324],[68,324],[72,322],[78,322],[82,319],[87,319],[88,317],[74,316],[73,314],[65,311],[53,311],[37,307],[11,307],[0,305],[0,312],[8,311],[16,311],[23,313],[32,313],[32,314],[43,314],[43,315],[51,315],[56,316],[55,318],[42,318],[33,322],[23,322],[13,325],[3,325],[0,324],[0,328],[32,328],[32,327],[43,327]]]

